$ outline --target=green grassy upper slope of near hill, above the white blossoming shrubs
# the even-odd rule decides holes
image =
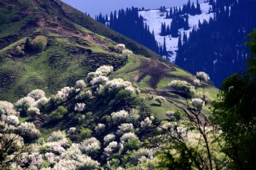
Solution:
[[[162,61],[146,47],[61,1],[0,0],[0,4],[0,100],[14,102],[33,89],[43,89],[50,96],[107,64],[116,71],[113,78],[131,81],[145,97],[168,98],[166,109],[149,103],[151,110],[161,112],[159,117],[164,118],[164,111],[184,102],[182,96],[168,87],[170,81],[180,79],[193,83],[195,79],[174,64]],[[47,38],[46,49],[17,55],[16,47],[23,47],[27,38],[33,39],[36,35]],[[120,42],[134,55],[124,57],[112,51]],[[217,89],[206,84],[205,90],[215,98]]]

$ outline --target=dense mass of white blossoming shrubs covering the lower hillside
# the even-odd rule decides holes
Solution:
[[[125,49],[123,45],[118,47]],[[141,106],[126,103],[142,101],[138,100],[140,91],[129,81],[109,79],[107,76],[112,72],[113,67],[102,66],[87,74],[85,81],[76,81],[74,87],[64,87],[50,98],[37,89],[15,105],[0,101],[1,121],[11,130],[14,127],[11,132],[15,132],[21,146],[23,141],[31,143],[36,140],[31,145],[33,149],[23,151],[22,162],[14,160],[20,169],[129,169],[149,166],[147,162],[153,161],[158,147],[149,147],[148,140],[152,132],[158,134],[161,131],[157,128],[159,120],[147,114]],[[181,89],[186,87],[181,86]],[[166,101],[161,96],[155,100],[160,105]],[[192,99],[191,106],[198,108],[200,103],[196,101],[199,100],[203,98]],[[29,116],[32,122],[41,121],[46,127],[56,125],[59,128],[61,125],[64,130],[52,132],[47,140],[43,140],[46,139],[44,136],[38,139],[41,133],[31,122],[19,123],[19,113],[22,117]],[[170,120],[176,121],[175,118]],[[167,130],[171,125],[168,122],[163,127]],[[10,136],[12,133],[6,131],[1,134]]]

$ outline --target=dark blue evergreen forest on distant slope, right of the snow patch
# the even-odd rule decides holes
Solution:
[[[210,1],[214,18],[198,23],[179,42],[176,64],[189,72],[204,71],[220,86],[230,74],[245,69],[246,35],[256,28],[256,1]]]

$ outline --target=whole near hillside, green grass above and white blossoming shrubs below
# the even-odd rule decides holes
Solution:
[[[192,146],[200,132],[185,125],[210,125],[218,89],[208,74],[61,1],[0,4],[0,169],[156,169],[176,123]]]

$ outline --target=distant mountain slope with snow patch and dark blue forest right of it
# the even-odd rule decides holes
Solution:
[[[180,7],[141,9],[138,15],[154,33],[159,55],[193,74],[207,72],[220,86],[230,74],[245,69],[245,36],[256,28],[255,8],[252,0],[188,1]]]

